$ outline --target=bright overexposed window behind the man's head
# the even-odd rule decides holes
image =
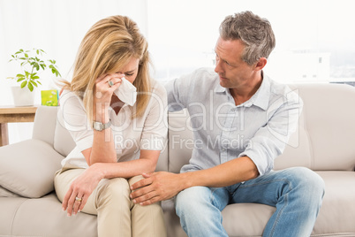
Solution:
[[[352,1],[147,1],[148,40],[155,77],[170,80],[214,66],[218,27],[225,16],[253,11],[270,21],[276,49],[265,73],[274,80],[355,80]]]

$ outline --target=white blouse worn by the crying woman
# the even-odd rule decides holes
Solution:
[[[149,103],[140,118],[131,119],[132,111],[136,109],[135,104],[124,104],[118,114],[111,107],[109,109],[117,162],[138,159],[140,149],[165,149],[168,134],[167,95],[160,83],[152,81],[152,84]],[[87,168],[87,161],[81,151],[93,146],[94,130],[88,123],[87,111],[81,98],[64,90],[60,97],[58,116],[63,117],[65,128],[76,142],[76,147],[62,161],[63,168]]]

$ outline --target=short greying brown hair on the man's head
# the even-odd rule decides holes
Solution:
[[[276,39],[268,19],[243,11],[227,16],[219,28],[223,40],[241,40],[245,43],[242,60],[253,65],[261,57],[270,55],[276,46]]]

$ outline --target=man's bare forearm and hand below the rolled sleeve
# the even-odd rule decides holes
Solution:
[[[188,187],[226,187],[252,180],[259,172],[249,157],[239,157],[206,170],[179,174],[155,172],[144,176],[146,179],[132,185],[131,198],[133,203],[149,205],[169,199]]]

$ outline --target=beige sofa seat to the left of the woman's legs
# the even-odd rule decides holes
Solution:
[[[97,236],[97,218],[78,213],[66,216],[54,193],[42,198],[0,197],[0,236]],[[2,212],[0,212],[2,213]]]

